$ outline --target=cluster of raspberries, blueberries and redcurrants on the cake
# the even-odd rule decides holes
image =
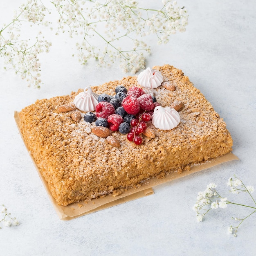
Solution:
[[[127,134],[127,139],[136,145],[142,143],[141,134],[147,128],[154,108],[159,106],[155,97],[145,93],[141,88],[132,86],[129,90],[123,85],[117,86],[115,96],[100,94],[96,106],[96,114],[87,112],[86,122],[94,122],[96,126],[105,126],[112,131]]]

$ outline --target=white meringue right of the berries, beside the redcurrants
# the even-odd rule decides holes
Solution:
[[[160,130],[171,130],[180,123],[180,115],[170,107],[163,108],[161,106],[155,107],[152,115],[152,124],[155,128]]]

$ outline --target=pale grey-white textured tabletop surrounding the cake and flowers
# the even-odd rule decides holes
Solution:
[[[19,2],[1,3],[0,24]],[[150,6],[155,1],[147,2]],[[256,215],[245,220],[234,238],[227,234],[231,217],[244,217],[249,211],[229,205],[211,211],[198,223],[192,207],[198,191],[210,182],[229,198],[226,182],[233,174],[256,187],[256,2],[178,3],[189,10],[187,31],[172,36],[167,45],[152,45],[148,66],[169,63],[189,76],[226,121],[240,161],[157,186],[155,194],[146,198],[71,221],[59,220],[20,139],[14,110],[126,74],[118,65],[80,66],[67,54],[75,51],[69,40],[53,37],[49,54],[41,58],[44,85],[40,90],[27,88],[0,66],[0,204],[21,222],[0,230],[0,255],[255,255]],[[235,198],[246,199],[245,195]]]

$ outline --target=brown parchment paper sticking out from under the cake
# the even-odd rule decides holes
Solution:
[[[19,126],[19,115],[18,112],[14,112],[14,119],[16,121],[18,130],[20,132],[20,126]],[[22,134],[20,132],[20,135],[22,137]],[[24,139],[22,137],[22,140],[24,142]],[[25,142],[24,142],[25,144]],[[27,145],[25,144],[27,147]],[[28,147],[27,147],[28,150]],[[28,150],[29,151],[29,150]],[[30,155],[30,152],[29,152]],[[189,175],[191,173],[195,173],[198,171],[202,171],[204,169],[210,168],[212,166],[215,166],[217,164],[221,164],[223,162],[228,162],[231,160],[238,160],[238,157],[236,157],[233,153],[228,153],[226,155],[223,155],[222,157],[218,157],[215,159],[212,159],[209,162],[205,162],[203,164],[198,164],[195,166],[192,166],[190,170],[185,170],[182,173],[169,173],[164,178],[159,179],[157,177],[151,178],[149,180],[146,180],[141,184],[141,186],[137,188],[128,189],[127,191],[123,192],[121,195],[117,195],[113,197],[112,195],[107,195],[103,198],[96,198],[92,199],[89,202],[81,201],[78,203],[69,204],[67,206],[58,205],[56,203],[56,200],[52,197],[51,192],[49,191],[48,184],[43,177],[43,175],[40,172],[40,168],[36,165],[36,162],[34,158],[31,156],[32,161],[34,162],[34,165],[36,166],[36,170],[38,171],[38,175],[40,176],[40,179],[43,182],[43,185],[45,186],[45,190],[52,201],[52,204],[58,214],[58,217],[61,220],[71,220],[73,218],[77,218],[79,216],[83,216],[85,214],[89,214],[95,211],[100,211],[102,209],[106,209],[108,207],[115,206],[117,204],[122,204],[124,202],[128,202],[131,200],[135,200],[137,198],[142,198],[147,195],[152,195],[154,193],[152,187],[157,186],[159,184],[163,184],[166,182],[171,182],[172,180],[184,177],[186,175]]]

